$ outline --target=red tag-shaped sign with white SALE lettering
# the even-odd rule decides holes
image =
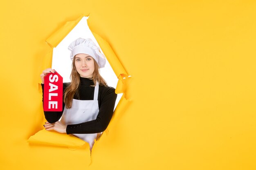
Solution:
[[[44,111],[62,111],[63,77],[57,72],[45,76]]]

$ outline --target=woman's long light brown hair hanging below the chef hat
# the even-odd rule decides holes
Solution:
[[[64,103],[66,108],[72,107],[72,99],[74,98],[74,95],[78,93],[77,89],[79,88],[79,85],[80,85],[80,75],[76,71],[75,58],[76,56],[74,56],[73,58],[72,71],[70,74],[71,82],[67,86],[64,92]],[[107,82],[101,77],[99,73],[98,63],[94,60],[94,58],[93,58],[93,61],[94,61],[94,72],[92,73],[91,79],[93,79],[94,84],[91,86],[96,86],[96,82],[99,82],[99,85],[108,86]]]

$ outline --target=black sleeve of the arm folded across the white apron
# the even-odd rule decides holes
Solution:
[[[102,97],[97,118],[81,124],[67,125],[67,134],[99,133],[106,130],[113,115],[116,99],[115,88],[109,88]]]

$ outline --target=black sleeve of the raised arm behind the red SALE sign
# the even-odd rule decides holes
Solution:
[[[41,86],[42,86],[43,97],[44,97],[44,84],[41,84]],[[66,84],[66,83],[63,83],[63,96],[64,96],[64,91],[65,91],[66,86],[67,86],[67,84]],[[43,99],[43,101],[44,101],[44,99]],[[65,107],[65,104],[64,104],[64,100],[63,100],[63,103],[62,103],[62,111],[60,111],[60,112],[44,111],[45,119],[46,119],[50,124],[52,124],[52,123],[58,121],[58,120],[61,118],[61,116],[62,116],[64,107]]]

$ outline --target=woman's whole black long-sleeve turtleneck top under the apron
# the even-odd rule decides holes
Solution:
[[[68,84],[69,83],[63,83],[63,96],[64,96],[65,88],[67,88]],[[95,87],[90,86],[93,84],[94,83],[92,79],[80,77],[78,95],[75,95],[74,99],[93,100]],[[41,84],[41,85],[44,91],[44,84]],[[99,85],[99,93],[98,93],[99,113],[97,115],[97,118],[95,120],[86,121],[80,124],[67,125],[67,128],[66,128],[67,134],[99,133],[106,130],[113,115],[116,99],[117,99],[117,94],[115,93],[115,88],[110,86],[106,87],[106,86]],[[44,111],[45,119],[49,123],[54,123],[58,121],[63,114],[64,108],[65,108],[65,104],[63,102],[63,109],[60,112]]]

